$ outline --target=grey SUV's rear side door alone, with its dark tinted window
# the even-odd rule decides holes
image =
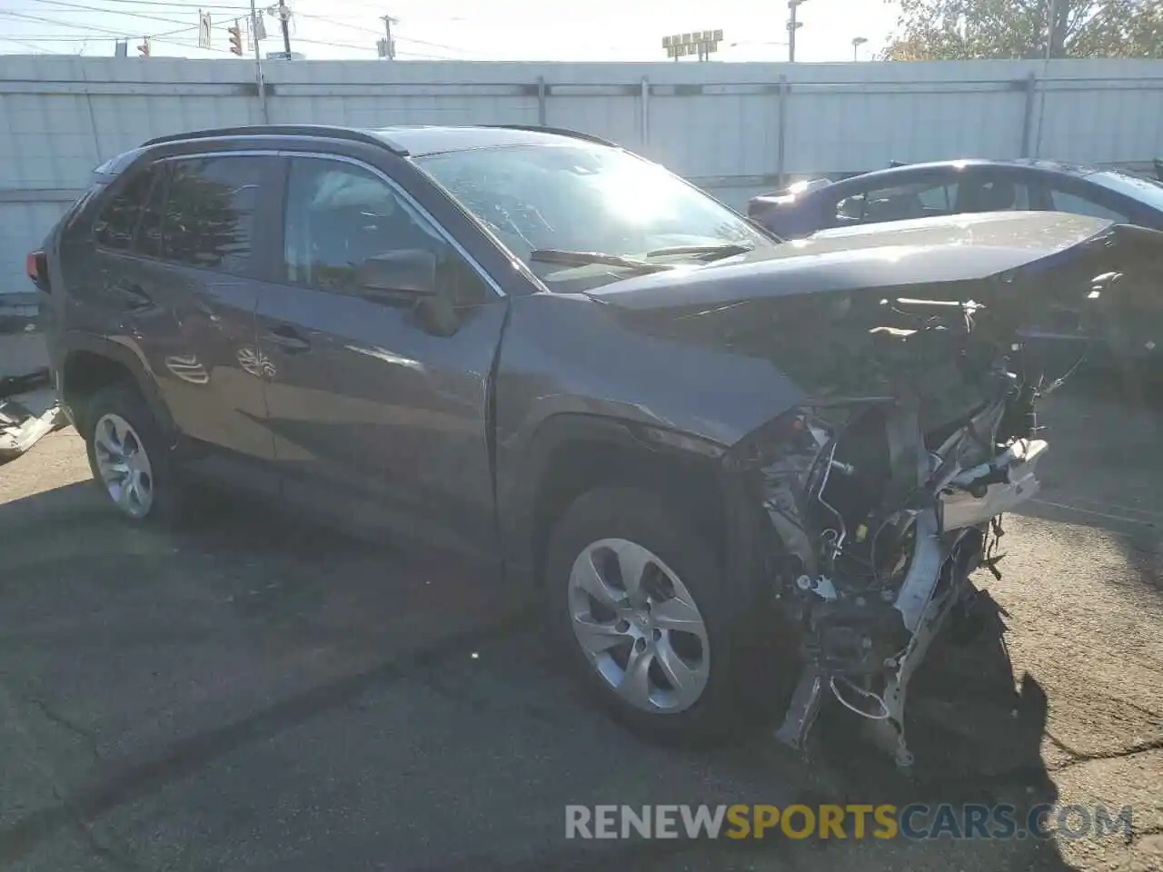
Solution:
[[[142,216],[141,291],[169,313],[151,359],[174,421],[195,441],[195,470],[277,491],[265,426],[255,309],[258,251],[277,215],[273,155],[222,152],[164,162],[165,198]],[[163,205],[164,203],[164,205]]]

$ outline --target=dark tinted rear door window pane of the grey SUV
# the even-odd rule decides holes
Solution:
[[[245,273],[263,166],[261,157],[242,155],[172,162],[162,230],[165,259]]]

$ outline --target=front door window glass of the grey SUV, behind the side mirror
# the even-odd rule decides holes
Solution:
[[[292,284],[356,291],[356,270],[368,258],[422,249],[436,256],[437,284],[454,302],[492,296],[436,228],[380,177],[352,164],[291,162],[284,238],[286,280]]]

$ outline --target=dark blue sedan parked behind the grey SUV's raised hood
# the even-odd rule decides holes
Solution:
[[[1011,209],[1163,229],[1163,183],[1049,160],[942,160],[840,181],[800,181],[748,203],[752,220],[784,238],[852,224]]]

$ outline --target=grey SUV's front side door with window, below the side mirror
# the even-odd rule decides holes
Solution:
[[[285,158],[279,274],[258,307],[284,495],[359,527],[493,553],[490,374],[506,303],[431,215],[354,158]],[[366,258],[435,255],[433,301],[370,298]],[[441,309],[444,310],[444,309]]]

